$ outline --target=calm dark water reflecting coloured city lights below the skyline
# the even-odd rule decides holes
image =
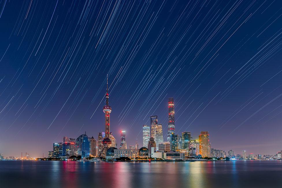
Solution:
[[[282,161],[0,161],[0,187],[282,187]]]

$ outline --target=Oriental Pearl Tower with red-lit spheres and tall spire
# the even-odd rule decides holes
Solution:
[[[110,140],[110,113],[112,112],[112,108],[109,106],[108,75],[107,75],[106,105],[103,107],[103,112],[105,113],[105,138],[102,141],[104,148],[99,154],[99,157],[101,155],[105,155],[107,149],[110,148],[112,145],[112,141]]]

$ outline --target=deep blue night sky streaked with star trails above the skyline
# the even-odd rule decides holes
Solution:
[[[47,156],[63,136],[105,131],[142,146],[168,97],[175,130],[212,148],[282,149],[281,1],[0,0],[0,152]]]

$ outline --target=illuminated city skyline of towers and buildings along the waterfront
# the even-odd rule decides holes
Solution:
[[[278,152],[275,156],[262,156],[254,155],[250,153],[246,154],[246,151],[242,152],[242,155],[235,155],[232,150],[229,150],[228,155],[223,150],[217,150],[211,148],[209,140],[209,132],[201,131],[198,139],[191,137],[191,132],[182,132],[181,134],[175,133],[175,110],[174,100],[172,97],[168,98],[168,130],[166,135],[166,142],[164,141],[162,124],[158,122],[158,116],[151,116],[150,125],[143,125],[142,128],[142,147],[139,148],[136,142],[135,146],[130,145],[127,147],[126,131],[120,131],[120,146],[117,148],[117,142],[112,132],[110,132],[110,113],[112,108],[109,106],[109,94],[108,94],[108,80],[107,80],[107,92],[106,105],[103,107],[105,114],[105,132],[98,133],[98,139],[93,136],[88,137],[85,134],[79,137],[69,138],[63,137],[62,142],[53,143],[53,150],[48,152],[48,157],[53,158],[68,158],[71,156],[81,156],[81,158],[88,157],[105,157],[106,159],[129,157],[131,159],[136,158],[161,158],[161,159],[183,159],[183,158],[204,158],[204,157],[216,157],[231,159],[280,159],[281,152]],[[0,159],[3,159],[3,155],[0,155]],[[26,159],[29,155],[26,153]],[[23,159],[23,157],[22,157]]]

